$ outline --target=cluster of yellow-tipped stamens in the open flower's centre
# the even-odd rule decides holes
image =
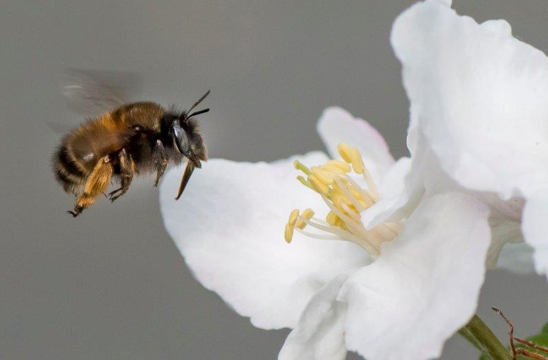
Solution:
[[[344,161],[329,160],[324,165],[308,168],[295,160],[295,168],[306,175],[299,175],[297,180],[321,196],[329,207],[329,213],[324,221],[314,218],[312,209],[306,209],[302,213],[299,209],[291,211],[284,233],[285,240],[290,243],[297,229],[316,239],[353,242],[376,258],[380,254],[382,243],[393,240],[401,229],[401,224],[384,222],[371,230],[365,229],[360,214],[379,201],[377,185],[364,165],[358,149],[340,143],[337,150]],[[352,172],[361,175],[365,187],[352,179]],[[307,226],[319,231],[306,231]]]

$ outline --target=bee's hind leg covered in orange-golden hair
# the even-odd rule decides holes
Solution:
[[[103,194],[103,192],[107,190],[113,172],[114,170],[112,164],[110,164],[108,155],[99,159],[99,162],[97,162],[97,165],[93,168],[93,171],[84,185],[84,193],[76,199],[74,209],[67,212],[76,217],[81,214],[84,209],[87,209],[95,203],[97,196]]]

